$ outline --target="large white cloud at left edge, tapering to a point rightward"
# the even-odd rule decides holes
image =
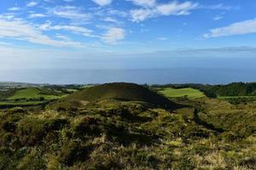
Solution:
[[[38,31],[24,20],[4,20],[0,17],[0,37],[55,47],[82,47],[80,42],[57,41]]]

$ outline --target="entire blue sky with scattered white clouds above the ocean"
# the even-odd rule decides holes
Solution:
[[[255,0],[3,1],[0,67],[236,67],[256,57],[255,11]]]

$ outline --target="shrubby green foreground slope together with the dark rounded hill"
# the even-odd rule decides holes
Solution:
[[[3,109],[0,169],[255,169],[256,103],[186,96],[115,83]]]

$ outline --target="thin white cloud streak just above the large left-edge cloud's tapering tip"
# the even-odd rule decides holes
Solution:
[[[92,35],[93,31],[84,28],[82,26],[51,26],[50,23],[46,23],[44,25],[39,26],[39,28],[41,30],[44,31],[50,31],[50,30],[55,30],[55,31],[59,31],[59,30],[64,30],[64,31],[71,31],[75,34],[79,34],[82,35],[84,37],[94,37]]]

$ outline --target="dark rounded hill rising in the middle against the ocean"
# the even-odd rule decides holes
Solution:
[[[91,88],[85,88],[64,99],[64,101],[73,100],[90,103],[98,103],[104,100],[139,101],[167,108],[177,107],[171,100],[166,99],[164,96],[157,94],[148,88],[135,83],[126,82],[107,83]]]

